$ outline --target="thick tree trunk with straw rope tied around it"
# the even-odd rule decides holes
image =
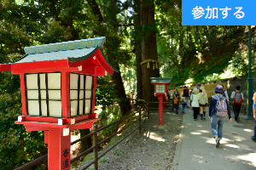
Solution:
[[[158,60],[156,47],[156,26],[154,23],[154,0],[143,0],[142,4],[142,60]],[[159,69],[153,70],[153,63],[150,62],[150,68],[147,64],[142,65],[143,70],[143,99],[148,101],[156,100],[154,97],[154,85],[150,83],[150,77],[160,77]]]

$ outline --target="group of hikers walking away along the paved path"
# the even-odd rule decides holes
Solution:
[[[236,91],[232,92],[230,98],[233,99],[233,111],[235,114],[235,121],[240,122],[239,113],[241,110],[241,102],[244,99],[243,94],[240,92],[240,86],[236,86]],[[220,140],[222,139],[223,134],[223,125],[225,116],[229,116],[229,122],[231,122],[231,114],[230,114],[230,106],[229,106],[229,95],[226,90],[224,90],[224,86],[217,85],[213,88],[215,92],[214,95],[211,96],[210,101],[208,101],[207,92],[204,87],[201,87],[201,83],[198,82],[197,86],[191,89],[189,93],[189,89],[185,86],[183,89],[183,98],[179,98],[179,93],[177,88],[172,94],[173,103],[175,105],[176,113],[178,113],[178,105],[179,102],[182,102],[182,109],[184,113],[184,108],[187,105],[189,107],[189,98],[190,105],[193,109],[194,120],[197,120],[197,116],[201,115],[201,120],[206,119],[206,107],[209,104],[209,119],[211,120],[211,129],[212,135],[216,142],[216,147],[218,148],[220,144]],[[256,93],[253,96],[256,102]],[[255,105],[256,109],[256,105]],[[253,116],[256,120],[256,112],[253,110]],[[256,132],[256,125],[254,127],[254,131]],[[252,136],[253,141],[256,142],[256,133]]]

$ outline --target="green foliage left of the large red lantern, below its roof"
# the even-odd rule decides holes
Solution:
[[[14,169],[46,154],[47,148],[43,132],[27,133],[24,126],[15,125],[22,115],[19,77],[1,72],[0,85],[0,164],[3,169]]]

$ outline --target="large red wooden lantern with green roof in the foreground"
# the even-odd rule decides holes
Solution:
[[[25,48],[26,55],[0,65],[20,75],[22,116],[27,132],[44,131],[50,170],[70,169],[70,131],[92,127],[96,76],[117,71],[102,53],[106,37]]]

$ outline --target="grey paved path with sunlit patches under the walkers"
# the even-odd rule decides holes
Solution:
[[[193,111],[187,109],[183,128],[172,162],[173,170],[255,170],[256,143],[250,138],[253,130],[234,121],[224,122],[223,139],[215,147],[211,122],[208,118],[193,120]],[[232,111],[232,116],[233,111]],[[247,122],[243,120],[243,122]]]

